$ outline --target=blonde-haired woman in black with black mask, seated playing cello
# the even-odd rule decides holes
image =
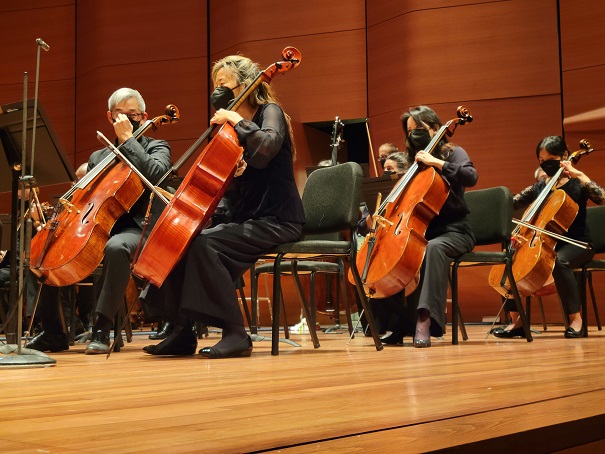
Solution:
[[[269,84],[261,83],[237,110],[224,109],[259,73],[256,63],[240,55],[219,60],[212,69],[211,101],[218,110],[211,123],[230,123],[244,147],[244,161],[224,197],[232,219],[203,230],[160,288],[175,328],[144,348],[151,355],[193,355],[193,319],[223,330],[222,339],[202,348],[201,356],[250,356],[236,282],[264,252],[301,235],[304,213],[294,181],[290,123]]]

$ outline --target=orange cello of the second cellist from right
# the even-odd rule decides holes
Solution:
[[[451,137],[459,124],[473,120],[466,106],[459,106],[457,115],[439,128],[424,151],[432,154],[446,134]],[[378,202],[372,216],[374,228],[356,261],[368,296],[386,298],[402,289],[410,294],[416,288],[428,243],[426,229],[448,195],[449,185],[441,175],[432,166],[415,162],[387,198]],[[349,280],[353,282],[352,273]]]

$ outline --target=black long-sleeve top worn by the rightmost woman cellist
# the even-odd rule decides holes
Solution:
[[[514,207],[528,207],[538,198],[545,187],[546,182],[544,180],[540,180],[537,183],[528,186],[514,197]],[[586,225],[586,205],[589,199],[597,205],[605,205],[605,190],[594,181],[585,185],[577,178],[569,179],[569,181],[559,189],[565,191],[565,193],[578,204],[578,214],[563,236],[590,243],[590,232]]]

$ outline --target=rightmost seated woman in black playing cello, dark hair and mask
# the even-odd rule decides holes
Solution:
[[[578,204],[578,214],[564,236],[589,243],[590,232],[586,226],[586,203],[590,199],[597,205],[605,204],[605,191],[585,173],[574,168],[571,161],[565,161],[568,155],[569,150],[562,137],[548,136],[542,139],[536,147],[536,156],[540,167],[547,175],[547,179],[539,180],[517,194],[514,198],[514,206],[515,208],[529,206],[540,195],[550,178],[557,173],[560,167],[563,167],[565,173],[557,182],[556,187],[565,191]],[[555,251],[557,256],[552,276],[557,292],[569,316],[569,328],[565,331],[565,337],[582,337],[584,334],[580,313],[582,304],[573,270],[591,260],[594,251],[592,249],[582,249],[563,241],[557,242]],[[493,331],[494,336],[525,338],[525,331],[521,326],[519,314],[515,311],[514,301],[507,300],[504,308],[510,311],[513,322],[508,326],[496,328]]]

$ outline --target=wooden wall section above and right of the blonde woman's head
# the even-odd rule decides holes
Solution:
[[[261,67],[281,58],[286,46],[297,47],[302,62],[292,74],[272,84],[284,109],[307,123],[341,118],[364,118],[366,106],[365,2],[335,0],[300,2],[273,0],[258,8],[250,2],[233,2],[230,8],[210,4],[211,60],[241,52]],[[294,14],[296,12],[296,14]],[[245,25],[244,25],[245,24]]]

